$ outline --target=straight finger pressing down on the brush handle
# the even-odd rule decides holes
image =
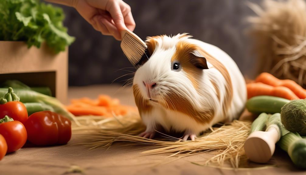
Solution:
[[[114,20],[114,23],[115,23],[117,29],[119,31],[125,30],[126,26],[125,26],[125,23],[124,23],[124,18],[123,18],[122,11],[120,9],[119,4],[114,2],[114,3],[111,4],[110,8],[106,9],[106,10],[110,13],[110,16]]]

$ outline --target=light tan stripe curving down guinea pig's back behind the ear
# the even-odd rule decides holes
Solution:
[[[223,114],[226,114],[226,111],[230,108],[230,104],[233,99],[233,86],[230,74],[227,71],[226,67],[220,61],[214,58],[211,54],[200,48],[199,52],[207,59],[208,62],[210,62],[214,66],[215,69],[217,69],[222,74],[226,81],[225,95],[223,99]]]

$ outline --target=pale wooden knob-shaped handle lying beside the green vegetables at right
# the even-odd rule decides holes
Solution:
[[[253,162],[266,163],[272,157],[278,140],[279,133],[275,128],[252,132],[244,143],[245,154]]]

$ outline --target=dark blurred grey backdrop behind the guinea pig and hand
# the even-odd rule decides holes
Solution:
[[[248,0],[260,3],[261,0]],[[125,0],[132,8],[135,33],[145,39],[154,35],[190,33],[227,52],[241,72],[253,77],[254,57],[246,35],[245,17],[254,15],[246,0]],[[65,26],[76,37],[69,47],[69,85],[109,84],[131,67],[120,42],[95,31],[75,9],[62,6]],[[133,70],[133,69],[129,69]],[[125,76],[114,83],[123,84]]]

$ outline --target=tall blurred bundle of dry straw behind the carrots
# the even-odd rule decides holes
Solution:
[[[306,88],[306,4],[304,0],[249,3],[258,15],[248,17],[258,73],[270,72]]]

